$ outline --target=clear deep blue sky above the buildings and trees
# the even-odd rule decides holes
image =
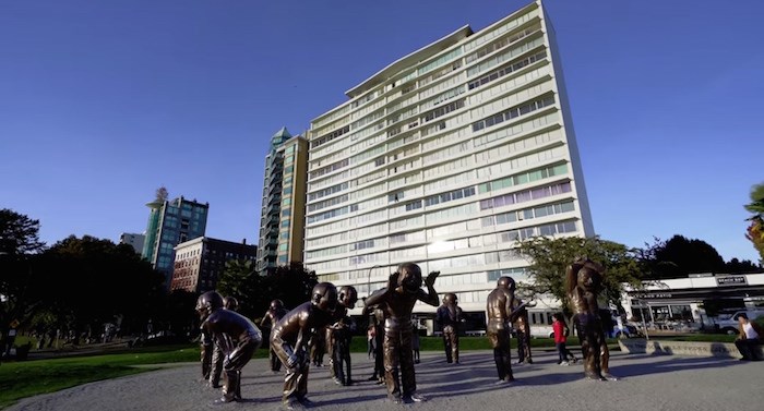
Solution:
[[[270,137],[465,24],[527,0],[0,0],[0,208],[48,244],[145,230],[157,188],[256,243]],[[764,3],[547,0],[594,226],[725,259],[761,171]]]

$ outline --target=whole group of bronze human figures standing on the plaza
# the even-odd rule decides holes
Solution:
[[[577,331],[583,358],[584,375],[588,379],[616,379],[609,371],[609,352],[602,329],[602,318],[597,305],[604,268],[588,259],[576,259],[566,270],[566,291],[573,312],[573,325]],[[420,402],[417,394],[411,337],[414,305],[421,301],[438,304],[434,281],[439,271],[422,279],[417,264],[405,263],[390,275],[387,286],[373,292],[363,301],[363,313],[371,314],[378,329],[379,352],[375,355],[374,375],[370,379],[384,382],[387,397],[395,403]],[[427,289],[425,291],[422,286]],[[513,324],[518,330],[521,362],[532,363],[527,322],[527,306],[515,295],[515,281],[500,277],[486,303],[486,336],[493,349],[493,360],[499,383],[514,380],[510,340]],[[330,354],[330,375],[343,386],[353,384],[349,343],[355,327],[348,311],[355,307],[357,291],[350,286],[339,290],[331,282],[318,283],[310,301],[286,311],[279,300],[271,303],[262,327],[272,328],[270,336],[271,370],[286,368],[282,402],[287,410],[311,406],[307,398],[310,366],[310,341],[319,334],[326,336]],[[464,313],[454,293],[443,295],[435,322],[442,327],[446,362],[458,363],[458,331]],[[260,329],[247,317],[236,313],[237,301],[223,299],[219,293],[203,293],[196,303],[202,324],[202,372],[212,387],[219,387],[224,373],[223,396],[216,403],[241,400],[241,368],[249,362],[262,342]]]

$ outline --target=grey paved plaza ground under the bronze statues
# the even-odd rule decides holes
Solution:
[[[514,354],[514,353],[513,353]],[[429,401],[394,404],[383,385],[367,378],[372,361],[353,356],[356,385],[332,383],[327,367],[311,367],[308,383],[312,410],[764,410],[764,362],[613,352],[611,371],[618,382],[583,379],[583,366],[557,365],[557,353],[534,353],[535,363],[513,365],[516,383],[498,380],[492,353],[462,353],[461,364],[446,364],[441,352],[422,352],[417,364],[418,392]],[[22,400],[9,410],[278,410],[282,374],[267,370],[267,361],[252,360],[243,370],[243,402],[213,406],[219,390],[200,382],[199,364],[86,384],[60,392]]]

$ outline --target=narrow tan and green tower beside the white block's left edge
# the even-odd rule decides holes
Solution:
[[[256,270],[302,262],[308,141],[283,128],[265,156]]]

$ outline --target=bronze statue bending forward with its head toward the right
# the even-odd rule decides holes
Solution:
[[[288,312],[273,326],[271,348],[287,370],[282,402],[287,410],[311,406],[308,395],[310,359],[308,341],[313,330],[322,329],[334,319],[337,288],[331,282],[313,287],[310,301]]]

